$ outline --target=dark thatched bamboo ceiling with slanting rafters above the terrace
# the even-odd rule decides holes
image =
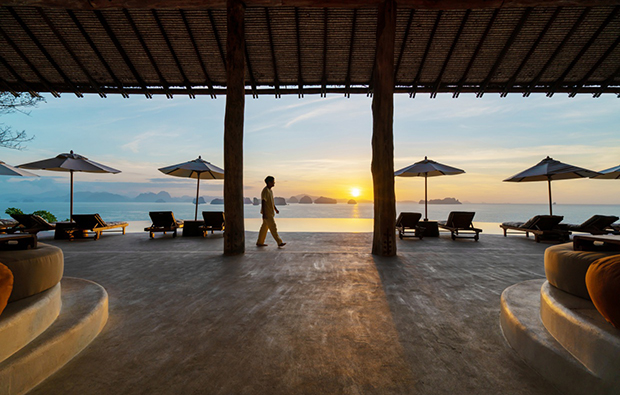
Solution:
[[[0,0],[0,90],[225,93],[226,10],[219,3],[211,9],[11,6],[23,3]],[[247,92],[372,94],[376,15],[375,7],[250,4]],[[619,44],[618,5],[399,8],[396,92],[620,95]]]

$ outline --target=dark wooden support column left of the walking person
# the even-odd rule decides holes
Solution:
[[[224,117],[224,254],[245,252],[243,223],[243,115],[245,112],[245,5],[226,1],[226,116]]]

